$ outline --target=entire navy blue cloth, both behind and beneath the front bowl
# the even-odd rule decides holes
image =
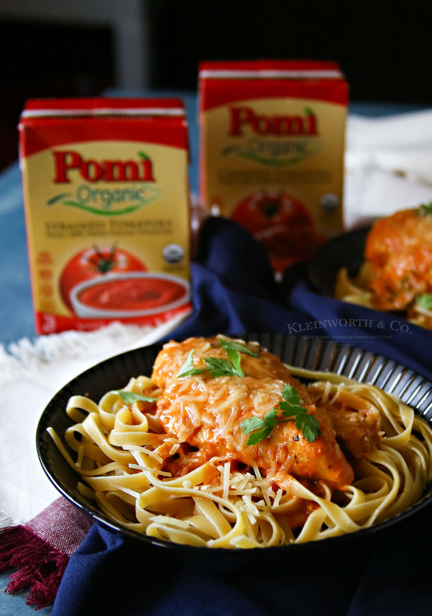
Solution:
[[[207,220],[192,279],[194,312],[170,337],[251,331],[333,337],[432,376],[431,334],[411,325],[404,331],[401,320],[315,294],[303,266],[288,272],[282,292],[261,246],[233,222]],[[295,557],[284,551],[283,560],[263,554],[258,567],[227,572],[212,571],[211,561],[179,562],[95,524],[71,557],[53,615],[426,614],[432,591],[419,565],[421,554],[431,554],[431,513],[427,507],[368,541],[351,536]]]

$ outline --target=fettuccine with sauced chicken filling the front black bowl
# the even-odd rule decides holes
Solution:
[[[178,354],[192,348],[195,366],[205,365],[202,357],[206,353],[219,352],[220,357],[225,353],[216,348],[217,339],[203,340],[190,339],[182,343],[184,348],[170,343],[164,352]],[[63,439],[53,428],[49,433],[80,475],[78,489],[84,498],[96,502],[124,528],[208,548],[285,546],[336,537],[401,513],[420,498],[432,479],[432,431],[413,409],[373,385],[285,366],[256,345],[246,346],[256,350],[258,357],[241,353],[244,376],[215,377],[195,367],[192,370],[201,370],[199,374],[172,378],[164,389],[154,382],[159,378],[155,363],[153,380],[131,378],[122,390],[151,396],[155,402],[125,402],[118,392],[107,392],[99,403],[73,396],[66,413],[74,424]],[[168,360],[166,356],[162,360],[165,369]],[[273,390],[270,394],[265,389],[255,391],[255,381],[249,376],[259,362],[267,365],[270,360],[280,363],[278,376],[285,371],[309,382],[304,388],[291,377],[307,401],[307,413],[320,422],[320,434],[316,433],[313,442],[294,426],[294,420],[282,420],[259,444],[246,445],[246,435],[238,428],[241,417],[233,419],[234,411],[250,418],[257,405],[265,411],[275,405]],[[264,376],[262,383],[267,387],[270,378]],[[272,387],[277,388],[277,383],[281,383],[279,378],[271,381]],[[247,396],[244,387],[249,388]],[[246,398],[249,406],[245,407]],[[230,400],[229,404],[224,406],[224,400]],[[208,411],[207,416],[207,411],[200,410],[215,405],[219,405],[217,415]],[[225,407],[229,409],[226,414]],[[175,409],[186,413],[183,424],[196,423],[190,428],[195,440],[186,440],[176,428]],[[331,418],[328,436],[322,413]],[[224,418],[214,444],[205,433],[202,446],[194,445],[196,435],[207,429],[213,416]],[[301,457],[303,451],[320,451],[327,464],[325,439],[329,443],[333,439],[335,462],[329,459],[328,470],[319,471],[308,466],[312,461],[296,466],[291,461],[288,467],[288,461],[282,460],[281,452],[285,455],[287,450],[278,444],[278,431],[285,440],[294,435],[287,459]],[[277,444],[275,450],[272,444]],[[266,459],[266,452],[272,459]],[[338,465],[342,470],[333,476],[333,467]],[[350,478],[350,483],[344,483]]]

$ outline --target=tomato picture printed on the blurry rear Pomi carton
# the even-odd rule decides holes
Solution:
[[[307,207],[279,190],[249,194],[238,203],[231,218],[262,243],[277,272],[311,257],[327,240],[314,228]]]

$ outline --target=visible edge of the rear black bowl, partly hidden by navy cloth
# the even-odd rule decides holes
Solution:
[[[323,295],[335,296],[335,283],[340,268],[348,268],[355,277],[364,261],[364,245],[370,227],[342,233],[329,240],[306,264],[309,282]]]

